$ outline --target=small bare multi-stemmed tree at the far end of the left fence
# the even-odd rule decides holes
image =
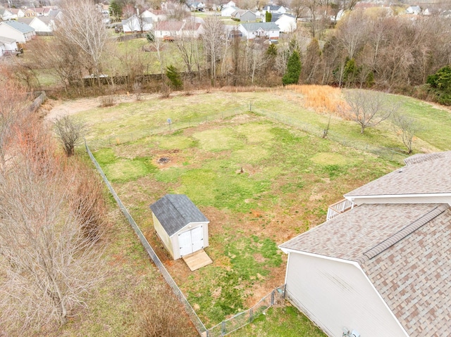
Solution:
[[[69,116],[56,118],[56,120],[54,120],[56,136],[68,157],[74,154],[75,146],[82,141],[84,127],[84,123],[73,120],[73,118]]]

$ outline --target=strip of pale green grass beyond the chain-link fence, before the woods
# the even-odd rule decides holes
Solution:
[[[401,109],[421,122],[423,131],[419,132],[414,141],[414,151],[446,151],[451,148],[451,114],[447,110],[435,108],[405,96],[391,96],[400,102]],[[199,123],[204,118],[221,115],[224,111],[252,110],[257,113],[276,113],[297,125],[307,125],[314,129],[316,135],[321,135],[328,122],[328,115],[314,113],[303,108],[301,94],[293,91],[274,89],[268,92],[222,93],[212,92],[193,96],[177,96],[168,100],[143,101],[138,103],[123,103],[111,108],[90,110],[81,116],[91,127],[89,139],[103,141],[128,141],[132,137],[152,134],[152,129],[168,129],[166,120],[171,118],[173,127],[187,126],[188,122]],[[288,123],[290,123],[288,122]],[[192,125],[192,124],[191,124]],[[366,129],[360,134],[359,126],[351,121],[333,117],[330,124],[330,135],[345,143],[370,144],[390,148],[404,148],[399,136],[393,131],[390,121],[385,121],[378,127]],[[111,140],[112,139],[112,140]],[[362,148],[362,146],[360,146]]]

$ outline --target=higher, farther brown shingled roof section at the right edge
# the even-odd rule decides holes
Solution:
[[[399,170],[354,189],[345,197],[451,193],[451,151],[414,155],[405,163]]]

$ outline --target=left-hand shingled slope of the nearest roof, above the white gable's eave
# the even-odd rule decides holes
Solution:
[[[364,262],[364,255],[438,208],[437,204],[364,204],[280,245]],[[446,208],[446,207],[445,207]],[[441,212],[445,208],[441,208]],[[401,238],[402,239],[402,238]]]

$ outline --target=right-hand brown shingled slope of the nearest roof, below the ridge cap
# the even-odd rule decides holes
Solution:
[[[410,336],[450,336],[450,261],[448,209],[362,267]]]

